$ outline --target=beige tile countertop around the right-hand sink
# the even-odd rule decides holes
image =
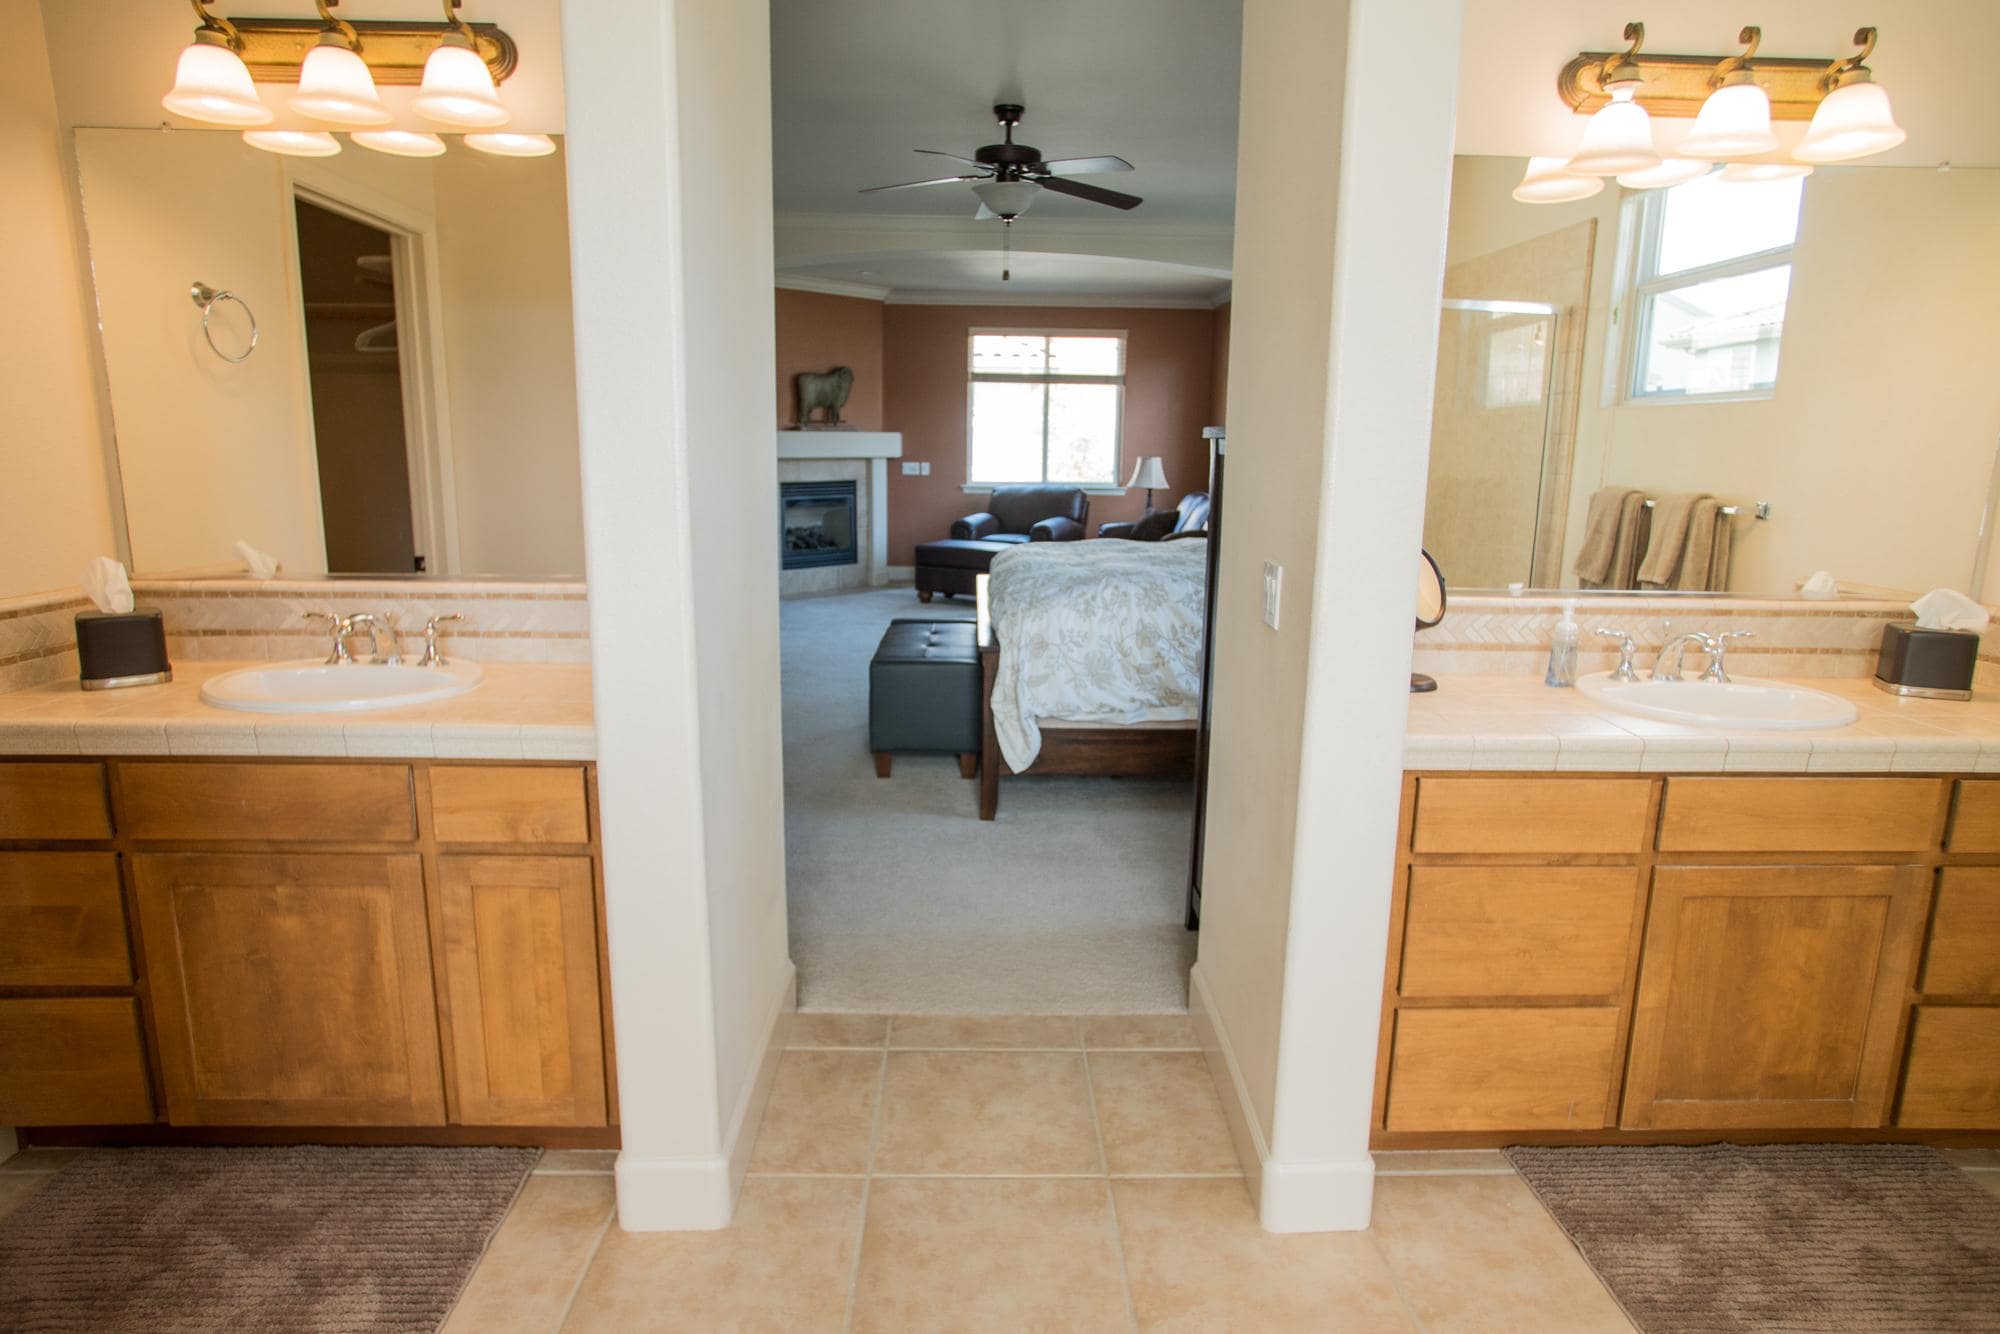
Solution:
[[[1410,696],[1404,768],[1710,774],[2000,774],[2000,692],[1904,700],[1866,676],[1788,682],[1852,700],[1844,728],[1748,730],[1654,722],[1534,676],[1438,674]]]

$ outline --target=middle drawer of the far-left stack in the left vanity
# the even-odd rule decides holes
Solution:
[[[0,852],[0,986],[130,986],[118,858]]]

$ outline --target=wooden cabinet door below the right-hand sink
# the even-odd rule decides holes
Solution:
[[[1922,926],[1914,866],[1662,866],[1622,1126],[1880,1126]]]

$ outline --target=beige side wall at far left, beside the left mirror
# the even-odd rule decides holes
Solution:
[[[114,552],[88,286],[34,0],[0,0],[0,598],[76,582]]]

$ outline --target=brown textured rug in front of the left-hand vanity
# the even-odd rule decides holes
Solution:
[[[0,1330],[434,1330],[532,1148],[124,1148],[0,1222]]]

